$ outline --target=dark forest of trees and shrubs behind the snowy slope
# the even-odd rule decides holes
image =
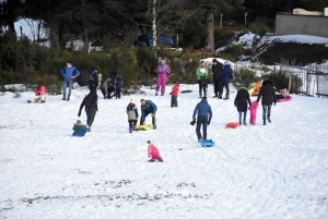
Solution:
[[[294,8],[323,11],[325,7],[326,0],[1,0],[0,82],[43,81],[59,87],[59,71],[71,60],[82,73],[78,78],[81,85],[96,66],[104,77],[121,74],[130,87],[152,82],[159,57],[168,59],[175,78],[187,82],[194,78],[188,73],[195,71],[201,58],[191,51],[211,51],[247,31],[272,33],[277,12],[292,12]],[[139,34],[152,32],[152,9],[156,12],[157,34],[178,39],[186,51],[181,58],[163,49],[132,47]],[[17,37],[14,23],[22,19],[37,22],[33,40]],[[42,31],[46,32],[45,38],[39,35]],[[74,39],[84,41],[84,50],[67,48],[67,42]],[[50,47],[39,46],[45,40]],[[92,41],[103,51],[89,53],[86,48]],[[230,49],[223,58],[239,56],[241,48]]]

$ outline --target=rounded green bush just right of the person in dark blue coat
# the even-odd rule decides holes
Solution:
[[[250,85],[256,81],[256,72],[245,69],[245,68],[236,68],[234,70],[234,81],[233,85],[236,88],[246,87],[250,88]]]

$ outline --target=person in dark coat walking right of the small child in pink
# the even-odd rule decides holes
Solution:
[[[266,119],[268,122],[271,122],[270,115],[271,115],[271,107],[272,102],[277,104],[276,99],[276,90],[273,88],[273,83],[269,80],[265,80],[262,82],[262,86],[260,88],[260,92],[257,97],[257,102],[262,98],[261,105],[262,105],[262,110],[263,110],[263,125],[266,125]]]

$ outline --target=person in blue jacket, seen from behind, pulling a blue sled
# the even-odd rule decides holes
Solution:
[[[196,124],[196,134],[198,137],[198,142],[202,139],[207,139],[207,129],[210,125],[212,119],[212,109],[211,106],[208,104],[207,97],[202,97],[201,101],[197,104],[192,113],[192,120],[196,121],[197,117],[197,124]],[[200,134],[200,126],[202,125],[202,137]]]

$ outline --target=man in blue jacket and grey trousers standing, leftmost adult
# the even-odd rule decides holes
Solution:
[[[71,61],[66,62],[66,68],[60,71],[60,74],[63,76],[63,93],[62,100],[70,100],[73,80],[80,75],[80,72],[77,68],[72,65]],[[66,96],[67,87],[69,87],[68,97]]]

